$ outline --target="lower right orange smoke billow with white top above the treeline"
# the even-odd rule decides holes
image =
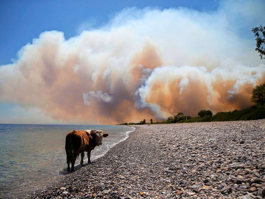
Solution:
[[[160,107],[164,112],[175,113],[174,107],[181,107],[185,113],[195,115],[198,109],[193,107],[202,103],[206,109],[231,110],[234,104],[230,104],[232,98],[237,94],[242,95],[242,99],[237,99],[244,107],[249,106],[250,92],[253,87],[264,80],[265,65],[248,67],[239,65],[231,68],[217,67],[207,72],[206,67],[183,66],[183,67],[159,67],[155,68],[145,85],[138,89],[142,105],[150,104]],[[225,82],[229,84],[222,84]],[[156,87],[159,85],[159,89]],[[250,85],[249,91],[244,90],[244,86]],[[243,90],[241,90],[243,89]],[[192,91],[192,92],[191,92]],[[247,92],[246,99],[244,93]],[[223,109],[224,106],[228,106]],[[170,107],[173,111],[171,112]],[[167,114],[169,115],[169,114]]]

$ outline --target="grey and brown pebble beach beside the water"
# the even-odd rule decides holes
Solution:
[[[265,198],[265,119],[136,128],[26,198]]]

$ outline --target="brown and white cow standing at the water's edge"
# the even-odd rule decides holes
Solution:
[[[102,145],[102,138],[107,137],[109,134],[103,131],[85,130],[85,131],[70,131],[65,139],[65,152],[67,161],[67,171],[74,171],[74,163],[76,158],[81,154],[81,162],[83,164],[84,152],[87,152],[88,163],[90,161],[91,150],[96,146]]]

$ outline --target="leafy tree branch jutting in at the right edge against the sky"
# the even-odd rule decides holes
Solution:
[[[256,48],[255,50],[259,52],[259,56],[262,59],[265,59],[265,26],[252,28],[252,32],[256,37]],[[263,57],[264,56],[264,57]]]

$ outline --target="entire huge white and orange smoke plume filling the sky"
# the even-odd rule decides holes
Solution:
[[[265,82],[254,38],[241,32],[265,21],[265,6],[252,2],[255,12],[246,13],[248,4],[223,2],[210,13],[127,9],[68,40],[43,32],[0,67],[1,101],[101,124],[248,107],[253,87]]]

